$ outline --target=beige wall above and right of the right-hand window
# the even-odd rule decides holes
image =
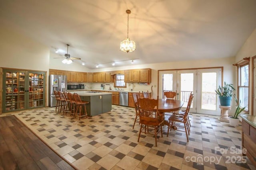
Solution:
[[[246,40],[242,48],[238,51],[235,60],[236,62],[242,60],[244,57],[250,57],[250,84],[249,84],[249,114],[252,114],[252,87],[253,87],[253,82],[252,82],[252,57],[256,56],[256,29],[252,32],[250,37]],[[256,106],[254,106],[256,107]],[[254,108],[255,109],[255,108]],[[254,113],[255,115],[255,113]]]

